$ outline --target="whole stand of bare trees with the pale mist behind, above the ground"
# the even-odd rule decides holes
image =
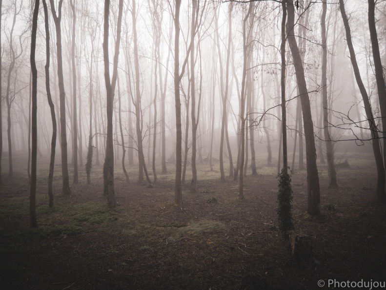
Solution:
[[[244,200],[244,175],[259,174],[264,153],[264,165],[277,166],[290,222],[289,174],[306,168],[316,215],[317,159],[338,186],[334,153],[358,145],[374,153],[385,201],[384,2],[41,3],[0,1],[0,184],[13,176],[13,157],[28,154],[32,227],[45,155],[50,206],[54,195],[71,196],[79,171],[92,183],[93,166],[103,166],[111,207],[114,183],[154,186],[170,170],[182,207],[183,184],[191,192],[200,184],[198,163],[225,183],[238,180]],[[117,166],[123,181],[114,179]],[[62,190],[53,192],[60,173]]]

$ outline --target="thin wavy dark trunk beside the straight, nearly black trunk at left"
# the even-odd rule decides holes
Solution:
[[[36,0],[38,1],[38,0]],[[52,181],[54,177],[54,167],[55,167],[55,148],[56,148],[56,134],[57,134],[57,124],[55,116],[55,106],[51,98],[51,89],[50,89],[50,30],[48,26],[48,9],[46,0],[42,0],[44,8],[44,26],[45,26],[45,53],[46,53],[46,62],[45,62],[45,89],[47,92],[48,105],[50,106],[51,111],[51,121],[52,121],[52,137],[51,137],[51,156],[50,156],[50,171],[48,174],[48,196],[49,196],[49,207],[54,205],[54,194],[52,191]]]

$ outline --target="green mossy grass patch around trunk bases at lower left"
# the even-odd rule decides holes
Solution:
[[[36,212],[39,228],[28,228],[29,197],[8,197],[0,203],[0,251],[17,251],[28,240],[42,240],[81,234],[87,224],[118,219],[119,209],[103,202],[56,202],[48,207],[45,194],[38,194]],[[15,223],[17,226],[15,226]]]

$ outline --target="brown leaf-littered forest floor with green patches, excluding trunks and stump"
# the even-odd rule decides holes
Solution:
[[[49,208],[43,162],[39,229],[30,229],[26,160],[15,157],[14,177],[4,174],[0,187],[0,289],[320,289],[321,279],[327,289],[329,279],[385,282],[386,206],[377,201],[373,157],[345,158],[349,167],[338,168],[337,188],[328,187],[326,166],[318,167],[316,217],[306,214],[305,170],[292,174],[294,226],[313,239],[313,261],[300,263],[278,231],[275,166],[258,167],[257,176],[248,169],[240,201],[238,182],[220,182],[218,164],[214,172],[199,165],[198,191],[191,193],[187,182],[181,208],[173,204],[172,165],[148,187],[136,183],[135,167],[127,185],[119,162],[117,207],[110,209],[102,196],[102,165],[93,167],[91,185],[80,166],[71,198],[59,194],[57,165],[55,206]],[[6,164],[2,168],[6,172]]]

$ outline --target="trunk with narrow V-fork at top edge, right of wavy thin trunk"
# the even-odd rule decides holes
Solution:
[[[67,134],[66,134],[66,93],[64,90],[63,80],[63,62],[61,50],[61,5],[63,0],[58,3],[58,16],[55,11],[54,0],[50,0],[51,12],[54,18],[56,28],[56,47],[58,61],[58,79],[59,79],[59,100],[60,100],[60,119],[61,119],[61,176],[62,176],[62,194],[64,196],[71,195],[68,166],[67,166]]]

